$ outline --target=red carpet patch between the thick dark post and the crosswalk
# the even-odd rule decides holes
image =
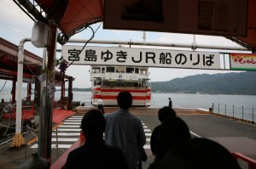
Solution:
[[[75,111],[72,110],[53,110],[53,117],[52,122],[54,123],[60,123],[61,121],[64,121],[69,116],[76,114]]]

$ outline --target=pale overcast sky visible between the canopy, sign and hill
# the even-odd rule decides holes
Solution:
[[[0,0],[0,37],[3,37],[9,42],[16,45],[24,37],[32,36],[33,21],[11,0]],[[96,30],[99,24],[92,25]],[[84,30],[72,37],[72,39],[88,39],[91,36],[90,29]],[[94,40],[113,40],[113,41],[140,41],[143,42],[143,31],[113,31],[103,30],[102,26],[98,31]],[[161,32],[146,32],[146,42],[167,42],[167,43],[184,43],[192,44],[193,35],[175,34],[175,33],[161,33]],[[195,36],[195,42],[200,45],[216,45],[216,46],[230,46],[240,47],[235,42],[224,37],[212,36]],[[78,44],[83,46],[84,44]],[[61,45],[57,48],[61,49]],[[26,42],[25,49],[31,51],[38,56],[43,55],[42,48],[36,48],[31,42]],[[177,49],[177,48],[176,48]],[[178,48],[181,50],[181,48]],[[191,50],[190,48],[182,50]],[[218,51],[224,52],[224,51]],[[60,54],[58,54],[57,57]],[[73,76],[75,81],[73,87],[90,87],[90,66],[89,65],[71,65],[67,69],[67,75]],[[171,68],[149,68],[150,78],[152,82],[170,81],[177,77],[191,76],[195,74],[215,74],[227,73],[227,70],[192,70],[192,69],[171,69]],[[2,87],[3,81],[0,81]],[[11,83],[9,83],[11,84]]]

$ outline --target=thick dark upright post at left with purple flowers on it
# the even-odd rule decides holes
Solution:
[[[46,81],[41,82],[40,126],[38,136],[38,155],[51,161],[51,134],[54,93],[49,93],[49,85],[55,85],[55,48],[57,29],[50,26],[49,47],[44,48],[43,70],[47,70]]]

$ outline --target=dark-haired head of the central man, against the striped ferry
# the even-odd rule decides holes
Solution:
[[[117,102],[119,104],[119,108],[123,110],[128,110],[132,104],[132,96],[130,92],[120,92],[117,96]]]

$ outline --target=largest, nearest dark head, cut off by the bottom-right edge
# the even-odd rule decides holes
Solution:
[[[170,149],[160,169],[240,169],[224,146],[207,138],[194,138]]]

